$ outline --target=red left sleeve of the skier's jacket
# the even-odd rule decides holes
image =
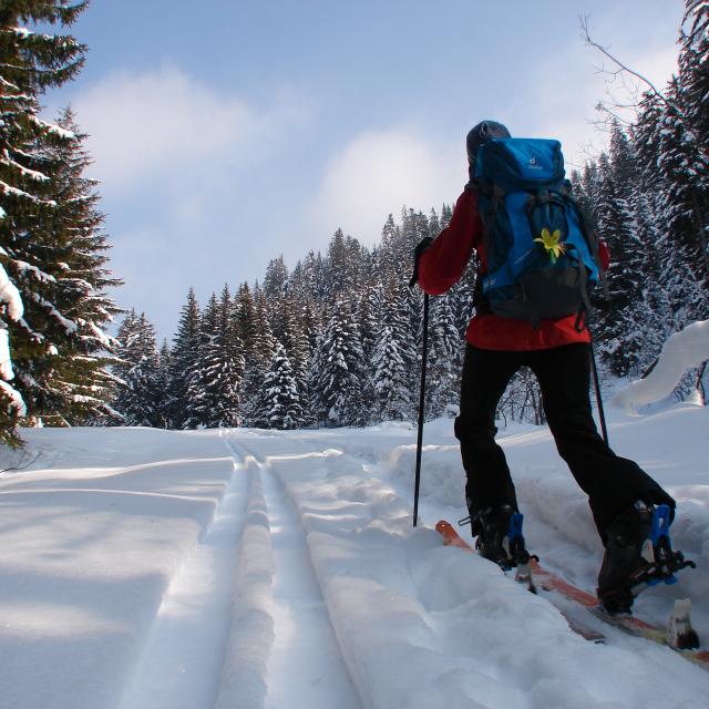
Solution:
[[[424,292],[439,296],[460,280],[481,235],[477,193],[466,189],[458,198],[448,227],[421,255],[419,285]]]

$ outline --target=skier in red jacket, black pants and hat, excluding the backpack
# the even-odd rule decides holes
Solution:
[[[435,240],[425,238],[414,250],[418,282],[427,294],[449,290],[461,278],[473,251],[479,258],[477,281],[485,275],[475,161],[481,145],[491,138],[508,137],[507,129],[495,121],[483,121],[467,134],[470,182],[449,226]],[[605,268],[608,255],[603,245],[599,256]],[[608,613],[629,613],[634,587],[649,566],[643,554],[655,505],[668,505],[671,521],[675,501],[635,462],[616,455],[598,434],[589,400],[588,328],[577,314],[538,322],[499,317],[479,290],[465,339],[460,415],[454,430],[479,553],[503,568],[516,565],[517,554],[510,549],[508,535],[511,517],[518,513],[518,506],[505,455],[495,443],[495,410],[512,377],[526,366],[540,382],[556,448],[588,495],[606,549],[598,574],[598,598]],[[522,549],[526,554],[523,540]]]

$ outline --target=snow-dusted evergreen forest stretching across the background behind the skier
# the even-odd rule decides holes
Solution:
[[[641,94],[631,121],[610,115],[607,150],[568,175],[612,256],[610,299],[594,299],[592,321],[608,378],[641,376],[669,335],[709,317],[709,4],[685,4],[676,75]],[[171,342],[157,341],[140,309],[121,314],[109,333],[120,280],[85,177],[80,116],[39,117],[42,95],[84,62],[86,48],[66,32],[85,6],[0,6],[3,440],[18,442],[18,425],[40,422],[298,429],[414,420],[423,296],[409,287],[412,254],[446,227],[452,205],[393,212],[371,247],[338,229],[326,253],[291,268],[276,256],[254,282],[215,284],[206,302],[191,289]],[[61,32],[34,34],[28,22]],[[474,287],[471,259],[454,288],[431,298],[428,419],[455,414]],[[678,395],[697,383],[701,374],[689,372]],[[500,415],[543,422],[528,372]]]

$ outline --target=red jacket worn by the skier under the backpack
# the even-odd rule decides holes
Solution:
[[[458,198],[451,222],[419,261],[419,285],[431,296],[445,292],[463,274],[467,259],[475,249],[482,261],[483,273],[487,259],[483,245],[483,225],[477,214],[477,193],[466,189]],[[602,244],[604,268],[608,255]],[[526,320],[499,318],[495,315],[476,315],[471,319],[465,339],[485,350],[545,350],[574,342],[590,342],[586,328],[580,332],[574,327],[576,315],[558,320],[542,320],[535,329]]]

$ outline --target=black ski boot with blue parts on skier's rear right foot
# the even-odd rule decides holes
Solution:
[[[598,599],[610,615],[629,614],[635,597],[648,586],[675,584],[675,572],[690,566],[669,540],[670,508],[638,500],[607,530],[606,553],[598,573]]]

